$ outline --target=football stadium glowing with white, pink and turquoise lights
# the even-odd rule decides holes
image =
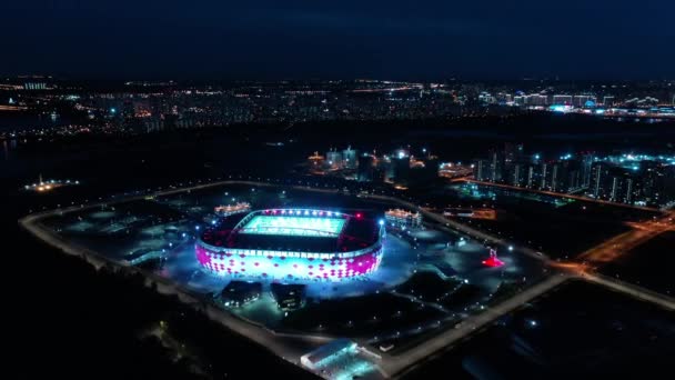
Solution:
[[[377,269],[384,222],[361,212],[266,209],[221,218],[195,246],[219,276],[342,281]]]

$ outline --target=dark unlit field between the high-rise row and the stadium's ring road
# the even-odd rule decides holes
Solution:
[[[478,186],[480,199],[462,192],[435,194],[439,207],[488,207],[497,210],[497,220],[461,219],[478,228],[540,250],[552,258],[573,258],[604,240],[629,229],[626,221],[649,219],[656,212],[601,204],[522,191]]]

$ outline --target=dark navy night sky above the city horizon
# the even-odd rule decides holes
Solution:
[[[675,1],[8,0],[0,74],[661,79]]]

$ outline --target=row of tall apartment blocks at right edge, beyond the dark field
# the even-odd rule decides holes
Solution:
[[[601,159],[580,152],[544,159],[507,142],[474,161],[474,179],[627,204],[663,207],[675,201],[675,164],[664,157]]]

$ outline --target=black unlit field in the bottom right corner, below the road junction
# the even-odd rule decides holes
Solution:
[[[675,354],[675,317],[649,303],[574,281],[505,316],[409,379],[661,378]]]

